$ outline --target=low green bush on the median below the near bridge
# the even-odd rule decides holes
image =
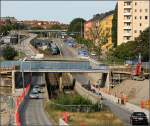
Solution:
[[[92,104],[90,100],[77,94],[61,94],[53,100],[53,104],[50,104],[49,107],[72,112],[97,112],[101,109],[99,104]]]

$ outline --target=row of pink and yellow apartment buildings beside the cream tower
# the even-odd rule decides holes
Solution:
[[[96,46],[99,46],[98,42],[101,41],[103,54],[112,47],[113,12],[98,14],[84,23],[84,38],[92,40]]]

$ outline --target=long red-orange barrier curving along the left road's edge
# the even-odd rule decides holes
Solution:
[[[18,96],[17,99],[16,99],[16,111],[15,111],[16,126],[21,126],[19,108],[21,106],[21,103],[24,101],[25,96],[28,94],[29,89],[30,89],[30,83],[27,84],[27,86],[25,87],[22,94],[20,96]]]

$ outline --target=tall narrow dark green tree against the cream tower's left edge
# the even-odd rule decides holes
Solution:
[[[116,4],[115,11],[112,19],[112,43],[113,46],[117,46],[117,17],[118,17],[118,4]]]

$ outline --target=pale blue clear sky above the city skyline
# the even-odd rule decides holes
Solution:
[[[115,5],[116,1],[1,1],[1,17],[68,24],[77,17],[89,20],[94,14],[113,10]]]

